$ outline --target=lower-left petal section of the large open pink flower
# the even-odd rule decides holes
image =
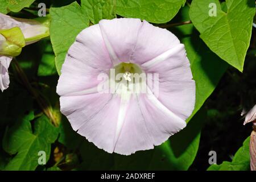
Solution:
[[[61,113],[73,130],[112,153],[120,101],[119,96],[99,93],[61,97]]]

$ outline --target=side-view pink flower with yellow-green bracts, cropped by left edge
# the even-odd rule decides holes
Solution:
[[[0,89],[9,86],[8,68],[13,56],[18,56],[28,44],[49,36],[48,18],[22,19],[0,13]]]

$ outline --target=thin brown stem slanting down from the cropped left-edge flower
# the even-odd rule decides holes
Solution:
[[[40,109],[42,109],[43,113],[46,114],[46,116],[50,119],[52,124],[54,126],[57,126],[57,121],[52,114],[51,106],[45,100],[43,100],[43,98],[40,96],[38,90],[34,89],[31,86],[26,74],[24,73],[23,69],[20,67],[18,61],[15,58],[13,59],[13,63],[14,63],[14,68],[16,70],[16,73],[18,73],[20,80],[22,81],[22,83],[24,84],[24,86],[26,87],[28,92],[30,92],[30,94],[33,97],[35,97],[35,100],[38,103]]]

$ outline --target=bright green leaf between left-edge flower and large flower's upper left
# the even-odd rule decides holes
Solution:
[[[75,42],[77,34],[89,26],[89,19],[77,2],[68,6],[51,8],[50,15],[52,18],[51,42],[56,56],[57,72],[60,75],[60,69],[69,47]]]

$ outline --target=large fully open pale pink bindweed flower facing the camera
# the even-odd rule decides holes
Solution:
[[[184,45],[170,31],[132,18],[81,31],[57,93],[73,130],[123,155],[162,144],[186,126],[195,105]]]

